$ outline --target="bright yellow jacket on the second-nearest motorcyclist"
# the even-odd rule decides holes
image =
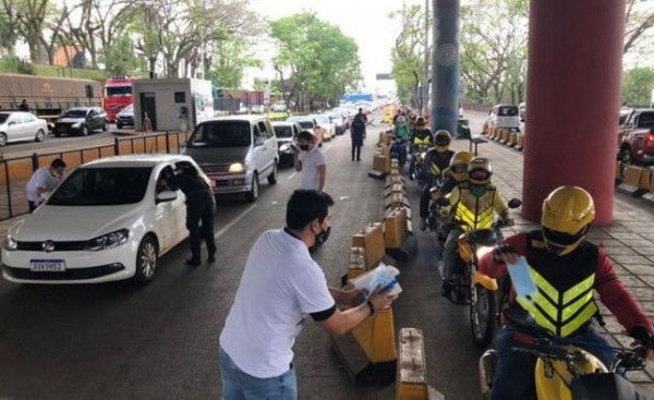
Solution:
[[[484,194],[479,197],[471,190],[469,182],[459,184],[447,196],[450,207],[444,209],[444,214],[453,213],[455,222],[459,222],[464,232],[471,229],[491,229],[495,213],[506,217],[509,206],[497,187],[487,184]]]

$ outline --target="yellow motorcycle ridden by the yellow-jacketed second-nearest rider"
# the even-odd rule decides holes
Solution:
[[[435,203],[441,207],[449,205],[446,198],[438,198]],[[511,209],[521,205],[519,198],[511,198],[508,203]],[[469,230],[461,234],[458,241],[457,265],[448,300],[458,305],[470,306],[472,339],[482,349],[486,348],[495,337],[499,322],[498,304],[506,302],[500,296],[506,299],[508,291],[505,281],[498,283],[496,279],[479,271],[479,258],[502,241],[501,229],[505,227],[504,221],[497,220],[491,229]],[[500,287],[501,291],[498,290]]]

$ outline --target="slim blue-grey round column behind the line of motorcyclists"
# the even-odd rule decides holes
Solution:
[[[459,119],[459,0],[434,0],[432,131],[455,135]]]

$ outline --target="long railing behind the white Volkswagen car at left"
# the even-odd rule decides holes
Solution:
[[[27,181],[34,171],[49,166],[56,158],[61,158],[70,171],[104,157],[146,153],[179,154],[180,142],[187,140],[189,135],[189,132],[166,132],[137,137],[116,137],[110,145],[0,159],[0,221],[28,213],[25,194]]]

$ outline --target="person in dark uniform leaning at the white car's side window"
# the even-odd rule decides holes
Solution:
[[[199,177],[197,169],[186,162],[177,163],[178,173],[166,177],[171,189],[180,189],[186,196],[186,229],[191,243],[191,258],[186,264],[198,266],[201,240],[207,244],[208,262],[216,260],[216,242],[214,240],[214,194],[209,185]],[[201,225],[202,221],[202,225]]]

